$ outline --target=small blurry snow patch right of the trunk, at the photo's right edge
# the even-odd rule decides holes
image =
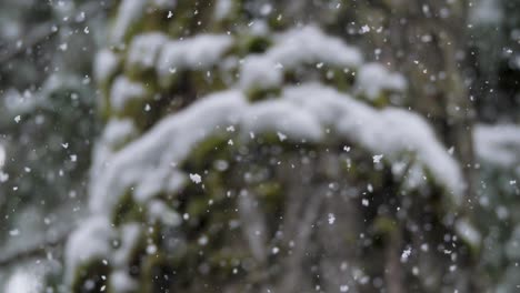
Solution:
[[[513,124],[477,125],[473,130],[477,156],[502,168],[520,163],[520,127]]]

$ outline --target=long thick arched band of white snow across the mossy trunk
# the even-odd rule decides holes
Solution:
[[[203,118],[203,119],[201,119]],[[233,125],[241,139],[250,132],[280,132],[293,142],[319,142],[329,128],[341,139],[361,144],[384,160],[412,153],[434,180],[460,202],[464,189],[457,162],[436,140],[419,115],[388,108],[376,110],[332,88],[309,83],[284,89],[282,97],[249,103],[238,90],[211,94],[159,122],[151,131],[113,154],[91,180],[90,209],[109,212],[118,195],[133,189],[148,201],[159,191],[176,191],[186,183],[177,165],[197,145]]]

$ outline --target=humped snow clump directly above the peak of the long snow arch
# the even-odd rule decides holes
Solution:
[[[308,26],[277,34],[273,47],[264,54],[247,57],[240,72],[240,85],[242,89],[268,89],[282,84],[281,71],[302,64],[358,68],[362,61],[358,49]]]

